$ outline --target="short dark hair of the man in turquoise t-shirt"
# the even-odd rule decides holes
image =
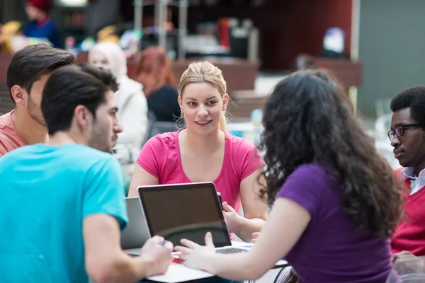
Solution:
[[[53,71],[42,92],[41,111],[49,134],[71,127],[74,110],[84,105],[96,117],[107,91],[117,91],[111,71],[75,64]]]

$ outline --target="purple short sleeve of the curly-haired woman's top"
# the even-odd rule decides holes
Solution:
[[[299,166],[288,176],[277,197],[300,204],[312,218],[322,207],[322,198],[329,191],[329,177],[323,168],[307,164]]]

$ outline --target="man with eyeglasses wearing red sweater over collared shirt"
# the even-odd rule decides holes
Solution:
[[[404,219],[391,240],[393,258],[425,255],[425,86],[392,98],[388,137],[403,168],[395,172],[406,189]]]

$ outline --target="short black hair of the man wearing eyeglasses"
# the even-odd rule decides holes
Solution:
[[[410,108],[410,115],[425,127],[425,86],[414,86],[400,91],[391,100],[392,112]]]

